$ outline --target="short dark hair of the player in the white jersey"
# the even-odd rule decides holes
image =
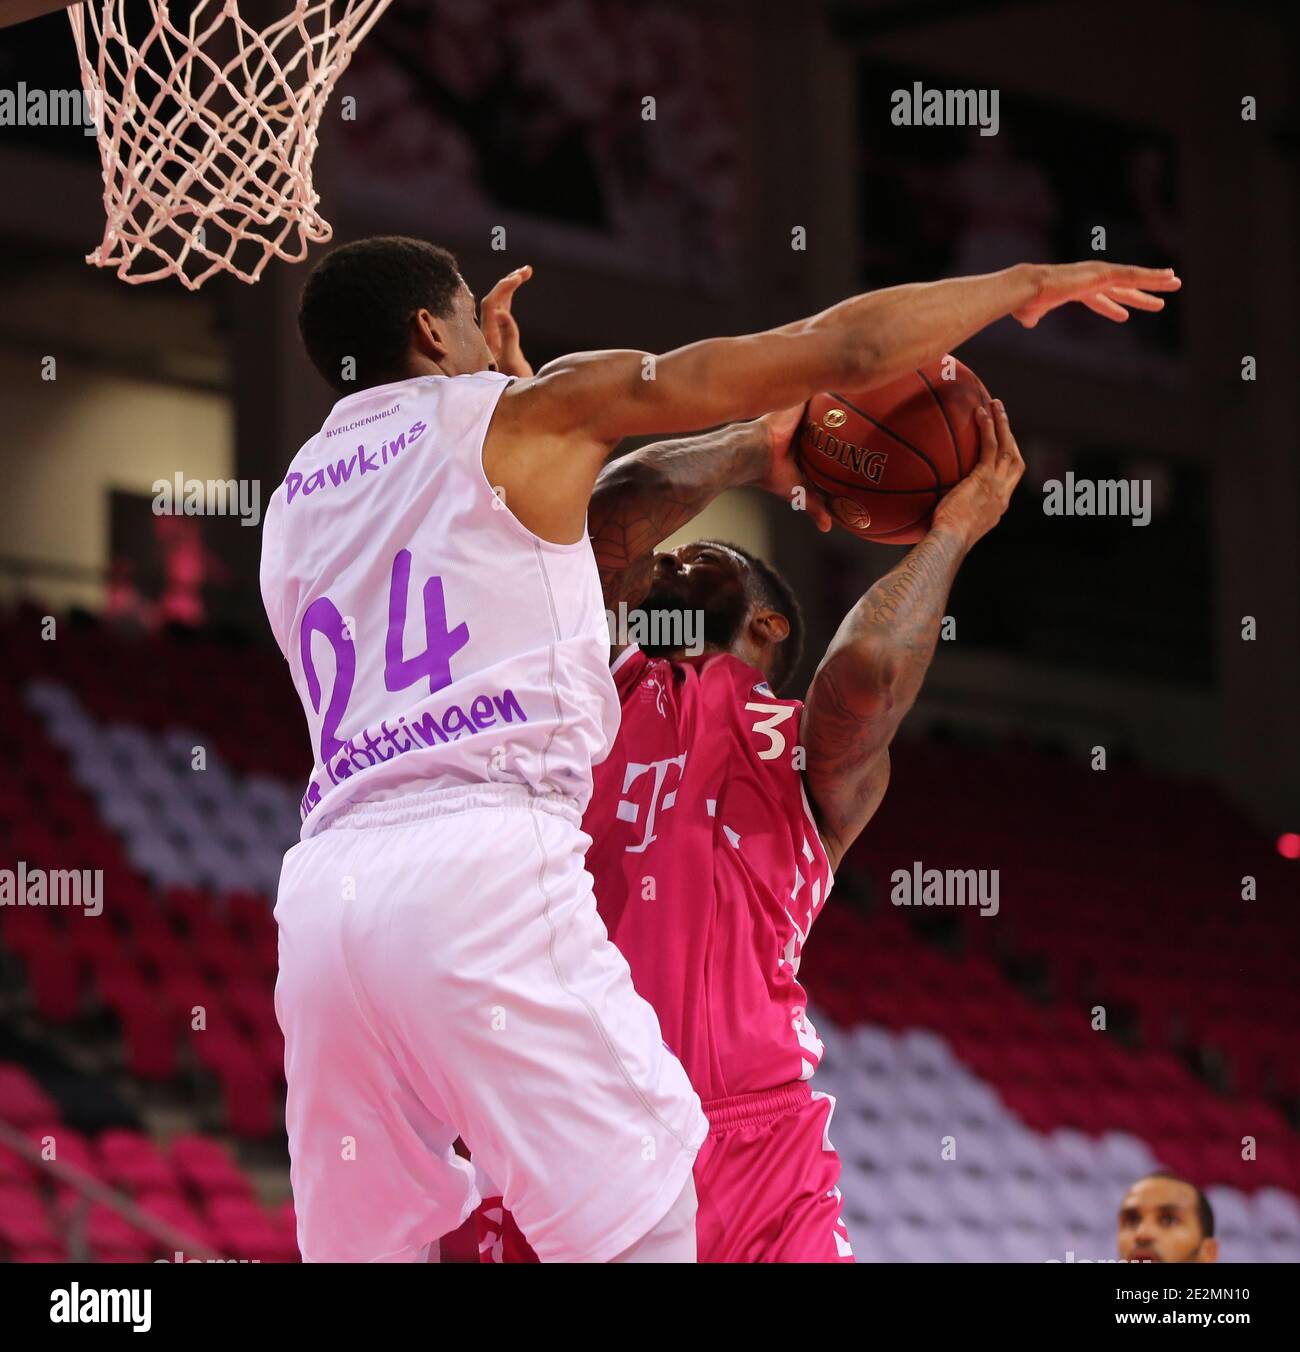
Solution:
[[[418,310],[446,319],[461,287],[455,258],[438,245],[374,235],[341,245],[303,287],[297,330],[312,365],[339,393],[401,380]],[[343,361],[357,362],[353,380]]]

